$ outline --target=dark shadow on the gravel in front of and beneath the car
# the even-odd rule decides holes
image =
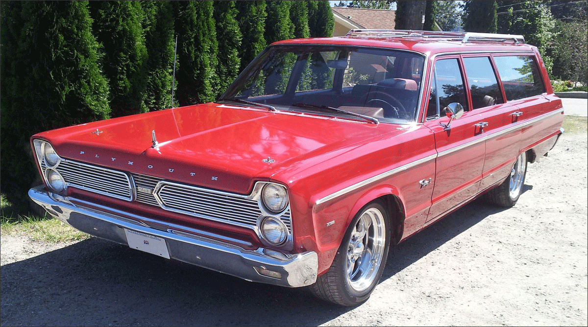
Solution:
[[[503,208],[474,201],[390,253],[382,280]],[[1,268],[2,325],[291,325],[352,308],[91,238]]]

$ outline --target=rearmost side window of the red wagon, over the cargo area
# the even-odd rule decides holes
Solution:
[[[496,68],[505,87],[506,100],[518,100],[545,92],[533,56],[496,56]]]

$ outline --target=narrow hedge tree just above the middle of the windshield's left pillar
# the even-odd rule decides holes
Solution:
[[[241,70],[265,48],[266,42],[263,38],[265,31],[265,1],[237,1],[237,21],[241,34],[245,36],[241,42],[239,52],[241,59]]]

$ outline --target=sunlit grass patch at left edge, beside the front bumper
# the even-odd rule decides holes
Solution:
[[[38,215],[12,215],[11,204],[2,198],[2,216],[0,217],[0,235],[25,234],[35,241],[45,242],[68,242],[80,241],[89,238],[90,235],[78,231],[62,221],[46,214],[44,217]]]

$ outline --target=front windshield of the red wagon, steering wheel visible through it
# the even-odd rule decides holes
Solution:
[[[423,62],[422,55],[392,49],[270,46],[219,101],[238,99],[278,110],[340,117],[352,117],[345,114],[352,112],[383,122],[412,122]]]

